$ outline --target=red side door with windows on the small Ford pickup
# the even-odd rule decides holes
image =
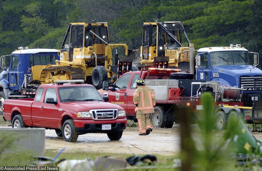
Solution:
[[[37,91],[37,95],[39,90]],[[54,98],[57,101],[56,90],[47,88],[40,102],[35,101],[32,104],[32,121],[35,126],[57,128],[58,104],[46,103],[47,98]]]

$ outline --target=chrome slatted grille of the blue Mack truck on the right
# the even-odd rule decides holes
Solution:
[[[241,76],[240,77],[240,85],[243,85],[244,91],[253,91],[254,90],[254,79],[262,79],[262,75],[255,76]],[[256,90],[262,91],[262,84],[256,85]]]

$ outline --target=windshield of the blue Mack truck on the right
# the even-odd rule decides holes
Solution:
[[[250,65],[247,51],[210,52],[210,65]]]

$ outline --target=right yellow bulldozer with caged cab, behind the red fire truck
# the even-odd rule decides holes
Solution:
[[[140,58],[133,63],[141,67],[177,68],[189,62],[190,40],[180,21],[144,23]],[[179,68],[182,66],[179,64]]]

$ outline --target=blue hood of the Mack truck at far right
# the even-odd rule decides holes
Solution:
[[[262,71],[260,69],[252,67],[251,65],[223,65],[212,67],[212,70],[215,72],[232,75],[234,77],[239,77],[241,75],[262,75]]]

